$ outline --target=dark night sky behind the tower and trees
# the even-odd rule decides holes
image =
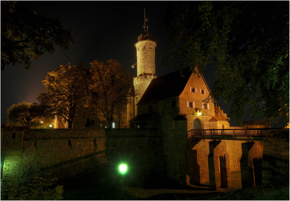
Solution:
[[[131,68],[137,62],[134,46],[138,37],[144,32],[144,9],[148,18],[148,34],[153,35],[157,43],[155,50],[156,76],[178,70],[161,68],[160,50],[169,48],[169,33],[165,30],[162,21],[163,10],[167,1],[20,1],[31,12],[36,11],[47,17],[59,17],[65,29],[71,29],[74,44],[65,51],[70,59],[78,65],[82,63],[90,68],[94,60],[108,61],[113,58],[129,71],[132,77],[136,76],[137,68]],[[32,60],[29,70],[23,65],[5,66],[1,70],[1,125],[5,123],[7,108],[22,101],[37,102],[39,92],[46,92],[41,82],[47,73],[68,65],[67,57],[56,48],[52,55],[45,54],[39,59]],[[204,72],[205,80],[211,88],[213,65]],[[229,113],[229,106],[218,106]],[[247,111],[246,111],[247,113]],[[251,120],[246,115],[242,120]],[[231,124],[235,126],[235,124]],[[272,125],[273,127],[273,125]]]

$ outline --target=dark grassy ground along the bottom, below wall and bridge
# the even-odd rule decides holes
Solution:
[[[168,178],[131,185],[125,182],[125,200],[289,200],[289,181],[241,189],[239,175],[233,173],[232,187],[220,191],[210,191],[207,185],[181,185]],[[62,200],[123,200],[122,180],[87,181],[79,180],[77,187],[64,189]]]

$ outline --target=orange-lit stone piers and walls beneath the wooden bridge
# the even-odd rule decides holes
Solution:
[[[186,184],[212,190],[231,186],[231,172],[240,172],[242,188],[262,182],[263,142],[209,140],[191,137],[186,147]]]

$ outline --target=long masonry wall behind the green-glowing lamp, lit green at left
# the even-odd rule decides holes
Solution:
[[[15,133],[15,139],[11,135]],[[6,128],[1,132],[4,153],[3,178],[17,175],[19,183],[40,172],[53,172],[59,180],[80,178],[117,182],[118,165],[127,163],[127,182],[142,183],[166,175],[162,132],[158,129],[28,129]],[[14,137],[14,134],[13,134]],[[23,140],[22,140],[23,138]],[[1,155],[2,156],[2,155]]]

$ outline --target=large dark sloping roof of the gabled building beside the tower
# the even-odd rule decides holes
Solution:
[[[177,70],[153,79],[137,105],[179,96],[192,74],[189,69],[190,67],[183,69],[185,77],[181,77]]]

